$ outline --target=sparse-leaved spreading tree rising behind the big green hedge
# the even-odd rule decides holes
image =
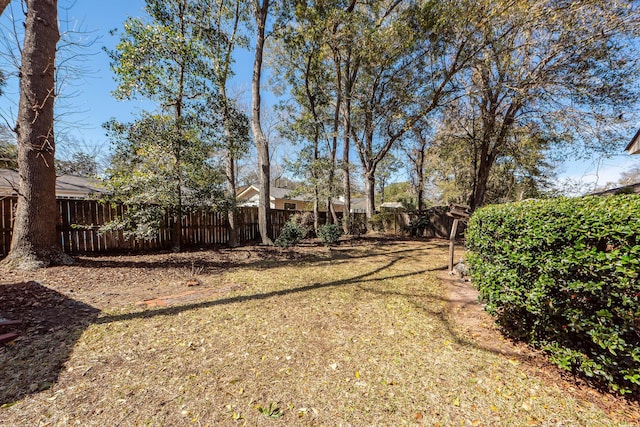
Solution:
[[[496,3],[478,4],[491,11]],[[518,160],[532,141],[554,143],[554,153],[569,142],[585,142],[583,152],[610,151],[621,142],[620,111],[637,99],[638,60],[629,43],[637,37],[637,7],[518,0],[505,11],[479,27],[484,48],[459,81],[467,94],[448,110],[455,138],[473,147],[472,209],[485,203],[492,168]]]

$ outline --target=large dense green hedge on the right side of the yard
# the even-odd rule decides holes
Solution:
[[[467,255],[487,310],[560,367],[640,389],[640,197],[527,201],[478,210]]]

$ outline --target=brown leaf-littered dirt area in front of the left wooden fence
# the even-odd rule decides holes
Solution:
[[[220,282],[222,272],[268,268],[269,263],[283,261],[323,259],[331,257],[330,252],[323,246],[307,243],[295,250],[242,246],[183,253],[81,255],[70,266],[26,272],[0,268],[0,286],[33,281],[99,310],[113,310],[167,296],[175,299],[184,294],[185,300],[194,300],[201,294],[206,298],[207,293],[223,292],[229,287]],[[189,291],[192,292],[188,294]]]

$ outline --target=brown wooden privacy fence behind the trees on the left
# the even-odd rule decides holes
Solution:
[[[16,197],[0,198],[0,259],[9,252],[13,229]],[[58,233],[60,244],[66,253],[109,252],[116,250],[144,251],[171,247],[171,230],[161,228],[150,240],[125,238],[121,231],[98,233],[100,227],[121,217],[122,205],[110,205],[94,200],[58,199]],[[277,236],[294,211],[271,210],[271,227]],[[238,240],[257,240],[258,208],[244,207],[238,212]],[[229,241],[229,223],[222,212],[190,211],[182,218],[182,244],[185,247],[225,244]]]

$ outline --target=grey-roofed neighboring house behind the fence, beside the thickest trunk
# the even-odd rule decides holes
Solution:
[[[88,199],[94,194],[103,193],[100,182],[83,176],[61,175],[56,178],[56,197],[58,199]],[[0,169],[0,197],[18,194],[18,172]]]

